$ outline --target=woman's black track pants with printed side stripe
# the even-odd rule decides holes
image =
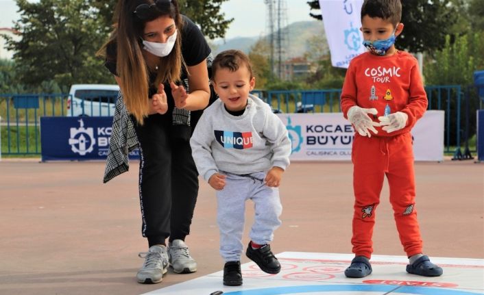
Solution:
[[[173,127],[167,116],[152,115],[136,125],[140,143],[139,188],[142,233],[149,246],[184,240],[190,232],[198,194],[190,127]]]

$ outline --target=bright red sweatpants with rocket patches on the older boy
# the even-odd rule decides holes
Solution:
[[[385,132],[385,131],[383,131]],[[407,257],[422,253],[415,209],[415,175],[411,133],[367,138],[356,133],[352,147],[354,216],[353,253],[371,258],[373,227],[387,175],[390,203]]]

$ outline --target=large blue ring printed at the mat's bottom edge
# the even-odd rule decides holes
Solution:
[[[353,293],[357,292],[357,293]],[[476,295],[482,294],[481,292],[468,292],[450,289],[446,290],[443,288],[434,287],[413,287],[413,286],[402,286],[400,288],[395,288],[394,285],[298,285],[298,286],[287,286],[287,287],[269,287],[261,289],[252,290],[239,290],[234,292],[226,292],[223,295],[295,295],[295,294],[305,294],[305,295],[317,295],[317,294],[327,294],[327,295],[348,295],[348,294],[375,294],[381,295],[382,292],[391,292],[392,294],[408,294],[408,295]]]

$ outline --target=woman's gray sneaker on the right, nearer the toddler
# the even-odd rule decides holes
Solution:
[[[189,274],[197,271],[197,262],[190,256],[189,247],[182,240],[173,240],[168,246],[168,257],[173,272]]]

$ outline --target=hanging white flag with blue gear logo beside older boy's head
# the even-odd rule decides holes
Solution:
[[[365,52],[361,5],[362,0],[319,0],[332,66],[348,68],[353,57]]]

